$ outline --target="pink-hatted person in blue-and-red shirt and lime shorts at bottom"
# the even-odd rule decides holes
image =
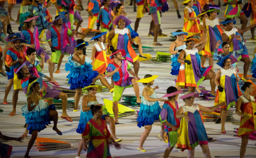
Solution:
[[[168,133],[168,147],[165,149],[164,158],[168,158],[171,151],[178,140],[178,129],[180,127],[180,120],[176,118],[176,112],[179,109],[177,99],[182,90],[171,86],[166,90],[167,94],[163,97],[168,97],[165,101],[161,113],[159,115],[160,122],[164,124],[165,132]]]

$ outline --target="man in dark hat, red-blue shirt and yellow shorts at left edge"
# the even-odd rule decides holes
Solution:
[[[11,43],[11,42],[13,43],[14,47],[11,47],[8,49],[5,57],[5,64],[8,68],[12,67],[15,73],[18,70],[19,65],[21,65],[24,61],[28,60],[26,59],[27,47],[23,46],[22,48],[22,43],[25,43],[26,41],[19,38],[18,36],[14,37],[13,40],[8,41],[8,43]],[[9,114],[9,116],[14,116],[16,114],[18,91],[22,89],[20,85],[20,80],[18,79],[16,74],[14,74],[13,86],[14,86],[14,92],[12,96],[13,109],[12,109],[12,112]]]

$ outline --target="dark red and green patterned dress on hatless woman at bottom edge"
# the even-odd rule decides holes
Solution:
[[[82,137],[90,139],[86,158],[111,158],[108,140],[111,134],[103,119],[101,119],[101,126],[93,120],[88,121]]]

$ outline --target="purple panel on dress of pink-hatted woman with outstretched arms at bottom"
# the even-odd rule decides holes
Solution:
[[[188,116],[190,119],[190,122],[188,122],[189,142],[190,142],[190,145],[193,145],[195,142],[198,141],[196,121],[193,113],[188,112]]]

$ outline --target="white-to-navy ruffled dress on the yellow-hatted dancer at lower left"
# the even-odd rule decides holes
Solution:
[[[31,104],[31,107],[36,103]],[[46,125],[51,124],[50,121],[53,121],[52,118],[49,118],[49,111],[55,110],[54,105],[49,105],[48,108],[44,104],[44,101],[39,100],[39,104],[32,110],[28,111],[27,104],[22,108],[22,115],[25,116],[26,123],[28,124],[27,130],[29,134],[32,134],[33,131],[42,131],[46,128]]]

